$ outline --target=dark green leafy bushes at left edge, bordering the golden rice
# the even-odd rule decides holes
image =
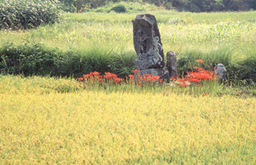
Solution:
[[[0,49],[0,71],[9,74],[45,75],[55,71],[58,56],[40,44],[5,43]]]

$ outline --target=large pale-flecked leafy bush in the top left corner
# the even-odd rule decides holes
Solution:
[[[12,0],[0,3],[1,29],[29,29],[55,23],[61,15],[61,6],[55,0]]]

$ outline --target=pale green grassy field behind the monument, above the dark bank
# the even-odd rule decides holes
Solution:
[[[186,50],[210,51],[228,47],[234,51],[233,54],[239,52],[243,56],[255,51],[256,12],[151,13],[155,14],[159,23],[166,52],[172,50],[184,54]],[[41,26],[30,31],[1,31],[0,41],[44,43],[61,49],[86,49],[97,43],[129,51],[133,50],[131,20],[137,14],[64,14],[64,20],[55,25]]]

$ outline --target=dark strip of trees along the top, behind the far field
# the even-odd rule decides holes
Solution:
[[[255,0],[61,0],[66,10],[82,12],[109,5],[109,3],[132,2],[151,3],[166,9],[178,9],[191,12],[241,11],[256,9]]]

